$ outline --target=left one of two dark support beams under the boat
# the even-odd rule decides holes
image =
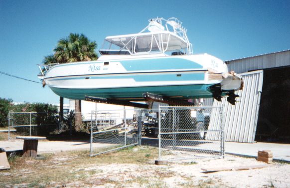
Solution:
[[[116,100],[116,99],[106,99],[101,97],[92,97],[92,96],[85,96],[86,101],[91,101],[95,103],[106,103],[106,104],[115,104],[115,105],[122,105],[122,106],[133,106],[137,108],[148,108],[147,104],[140,104],[134,103],[130,101],[123,101],[123,100]]]

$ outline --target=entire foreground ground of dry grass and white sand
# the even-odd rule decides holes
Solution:
[[[89,157],[88,151],[43,154],[44,158],[10,159],[11,170],[0,172],[0,188],[218,188],[290,185],[289,164],[264,169],[204,174],[202,168],[264,164],[252,158],[196,159],[154,165],[157,149],[133,147]]]

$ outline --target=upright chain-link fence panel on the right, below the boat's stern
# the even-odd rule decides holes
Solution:
[[[159,160],[181,160],[196,157],[223,157],[223,108],[159,107]],[[213,113],[219,116],[211,116]],[[209,130],[216,117],[216,130]],[[216,140],[208,140],[208,135]]]

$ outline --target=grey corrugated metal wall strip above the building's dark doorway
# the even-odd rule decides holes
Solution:
[[[290,50],[226,61],[228,70],[237,73],[265,68],[290,66]]]

